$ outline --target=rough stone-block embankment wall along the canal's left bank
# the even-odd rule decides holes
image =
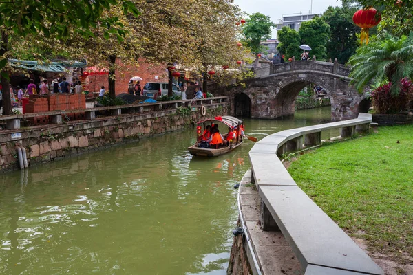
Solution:
[[[198,120],[227,115],[226,103],[204,105],[195,110],[168,109],[151,113],[119,115],[70,124],[34,126],[19,131],[0,132],[1,171],[18,169],[16,146],[27,152],[28,165],[63,159],[120,142],[138,142],[145,137],[160,135],[192,126]],[[182,109],[181,109],[182,110]]]

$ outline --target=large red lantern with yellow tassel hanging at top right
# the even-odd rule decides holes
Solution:
[[[366,41],[368,44],[368,29],[374,26],[381,21],[381,14],[377,12],[375,8],[368,8],[357,10],[353,15],[354,24],[358,25],[361,28],[360,34],[360,43],[363,44]]]

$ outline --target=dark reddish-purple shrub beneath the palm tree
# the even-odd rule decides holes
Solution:
[[[382,85],[372,91],[372,104],[376,113],[400,113],[410,107],[413,98],[413,84],[408,78],[400,80],[399,96],[392,96],[392,83]]]

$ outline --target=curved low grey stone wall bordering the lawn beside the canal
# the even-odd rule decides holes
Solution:
[[[321,64],[322,65],[322,64]],[[249,152],[253,181],[262,199],[264,231],[281,231],[306,275],[383,274],[383,270],[301,190],[277,155],[321,144],[321,131],[341,137],[369,130],[372,115],[268,135]]]

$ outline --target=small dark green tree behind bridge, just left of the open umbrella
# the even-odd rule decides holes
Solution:
[[[280,53],[285,54],[286,59],[293,56],[299,59],[299,55],[301,54],[301,50],[299,50],[301,37],[297,31],[288,27],[283,27],[278,32],[278,40],[279,44],[277,49]]]

